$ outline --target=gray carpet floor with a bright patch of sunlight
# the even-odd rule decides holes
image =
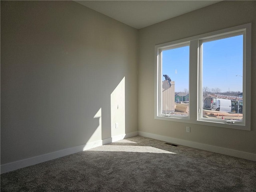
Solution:
[[[1,192],[256,192],[256,162],[136,136],[1,174]]]

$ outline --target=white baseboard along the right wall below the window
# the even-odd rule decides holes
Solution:
[[[192,142],[192,141],[187,141],[187,140],[182,140],[182,139],[177,139],[177,138],[171,138],[171,137],[167,137],[167,136],[161,136],[161,135],[146,133],[146,132],[142,132],[142,131],[138,131],[138,135],[165,141],[165,142],[170,142],[173,144],[184,145],[184,146],[188,146],[188,147],[192,147],[192,148],[197,148],[197,149],[206,150],[206,151],[210,151],[210,152],[215,152],[215,153],[220,153],[220,154],[229,155],[229,156],[233,156],[233,157],[256,161],[256,154],[254,154],[254,153],[248,153],[248,152],[243,152],[243,151],[238,151],[238,150],[233,150],[233,149],[228,149],[228,148],[222,148],[222,147],[217,147],[217,146],[212,146],[212,145],[207,145],[207,144],[202,144],[202,143],[197,143],[197,142]]]

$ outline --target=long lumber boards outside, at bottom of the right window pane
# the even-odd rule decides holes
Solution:
[[[217,119],[242,119],[243,114],[228,113],[222,111],[211,111],[203,110],[203,116],[206,118],[217,118]]]

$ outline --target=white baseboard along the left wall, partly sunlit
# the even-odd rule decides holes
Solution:
[[[72,148],[67,148],[67,149],[64,149],[64,150],[60,150],[60,151],[56,151],[56,152],[52,152],[52,153],[48,153],[48,154],[43,154],[43,155],[40,155],[40,156],[19,160],[19,161],[16,161],[16,162],[3,164],[0,167],[1,174],[6,173],[6,172],[10,172],[10,171],[14,171],[14,170],[17,170],[17,169],[20,169],[20,168],[24,168],[24,167],[27,167],[27,166],[35,165],[35,164],[38,164],[38,163],[46,162],[46,161],[49,161],[49,160],[53,160],[53,159],[63,157],[63,156],[66,156],[66,155],[81,152],[81,151],[91,149],[91,148],[94,148],[94,147],[102,146],[102,145],[105,145],[105,144],[108,144],[108,143],[111,143],[111,142],[122,140],[124,138],[137,136],[137,135],[138,135],[138,131],[135,131],[135,132],[127,133],[127,134],[114,136],[112,138],[106,138],[106,139],[103,139],[103,140],[98,140],[98,141],[95,141],[95,142],[86,143],[84,145],[80,145],[80,146],[76,146],[76,147],[72,147]]]

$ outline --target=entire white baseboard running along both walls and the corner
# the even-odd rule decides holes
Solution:
[[[20,168],[24,168],[27,166],[32,166],[32,165],[35,165],[38,163],[46,162],[48,160],[53,160],[53,159],[63,157],[66,155],[81,152],[81,151],[91,149],[94,147],[102,146],[102,145],[105,145],[105,144],[108,144],[111,142],[122,140],[124,138],[130,138],[133,136],[137,136],[137,135],[148,137],[148,138],[153,138],[153,139],[157,139],[157,140],[162,140],[162,141],[170,142],[170,143],[174,143],[174,144],[184,145],[184,146],[188,146],[188,147],[192,147],[192,148],[198,148],[198,149],[206,150],[206,151],[210,151],[210,152],[216,152],[216,153],[220,153],[220,154],[225,154],[225,155],[229,155],[229,156],[234,156],[234,157],[238,157],[238,158],[244,158],[244,159],[256,161],[256,154],[252,154],[252,153],[248,153],[248,152],[242,152],[242,151],[232,150],[232,149],[228,149],[228,148],[222,148],[222,147],[211,146],[211,145],[207,145],[207,144],[202,144],[202,143],[197,143],[197,142],[192,142],[192,141],[187,141],[187,140],[182,140],[182,139],[177,139],[177,138],[171,138],[171,137],[167,137],[167,136],[161,136],[161,135],[156,135],[156,134],[151,134],[151,133],[146,133],[146,132],[141,132],[141,131],[135,131],[135,132],[127,133],[127,134],[113,136],[112,138],[106,138],[103,140],[86,143],[84,145],[67,148],[64,150],[60,150],[60,151],[56,151],[56,152],[52,152],[52,153],[48,153],[48,154],[43,154],[40,156],[23,159],[23,160],[11,162],[8,164],[3,164],[0,167],[1,174],[10,172],[13,170],[17,170]]]

